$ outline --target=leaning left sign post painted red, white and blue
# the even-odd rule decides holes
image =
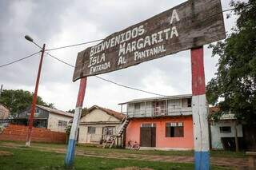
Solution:
[[[82,113],[82,104],[83,104],[83,100],[86,93],[86,82],[87,82],[87,77],[83,77],[80,80],[78,100],[77,100],[77,105],[74,111],[73,123],[70,130],[69,144],[67,146],[67,151],[66,151],[65,166],[67,168],[71,168],[74,164],[75,144],[76,144],[76,138],[78,136],[77,133],[78,133],[78,126],[79,126],[80,117]]]

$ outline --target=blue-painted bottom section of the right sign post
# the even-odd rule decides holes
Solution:
[[[210,152],[194,152],[194,169],[209,170],[210,169]]]

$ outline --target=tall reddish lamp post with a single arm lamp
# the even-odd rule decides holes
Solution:
[[[37,103],[37,97],[38,97],[38,84],[39,84],[39,80],[40,80],[41,69],[42,69],[42,59],[43,59],[43,55],[45,53],[46,44],[43,44],[41,47],[40,45],[36,44],[34,42],[34,40],[32,38],[30,38],[30,36],[26,35],[25,38],[27,41],[34,43],[34,45],[37,45],[40,49],[42,49],[39,67],[38,67],[38,77],[37,77],[37,81],[35,83],[33,101],[32,101],[32,105],[31,105],[31,109],[30,109],[29,128],[28,128],[27,136],[26,136],[26,147],[30,147],[31,133],[32,133],[32,127],[33,127],[33,121],[34,121],[33,120],[34,119],[34,111],[35,111],[35,105]]]

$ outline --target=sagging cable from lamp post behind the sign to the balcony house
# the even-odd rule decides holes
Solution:
[[[55,60],[58,60],[60,62],[62,62],[63,64],[65,65],[69,65],[70,67],[73,67],[74,68],[74,65],[70,65],[70,63],[67,63],[66,61],[62,61],[61,59],[59,59],[58,57],[54,57],[52,54],[50,53],[47,53],[50,57],[53,57]],[[117,82],[114,82],[114,81],[110,81],[106,78],[102,78],[102,77],[99,77],[99,76],[94,76],[94,77],[97,77],[98,79],[101,79],[102,81],[107,81],[107,82],[110,82],[114,85],[119,85],[121,87],[124,87],[124,88],[127,88],[127,89],[134,89],[134,90],[137,90],[137,91],[140,91],[140,92],[143,92],[143,93],[149,93],[149,94],[154,94],[154,95],[157,95],[157,96],[161,96],[161,97],[165,97],[166,95],[162,95],[162,94],[158,94],[158,93],[152,93],[152,92],[149,92],[149,91],[146,91],[146,90],[143,90],[143,89],[136,89],[134,87],[130,87],[130,86],[127,86],[127,85],[122,85],[122,84],[119,84]]]

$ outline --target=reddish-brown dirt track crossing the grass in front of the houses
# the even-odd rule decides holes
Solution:
[[[23,148],[21,144],[4,143],[1,144],[7,148]],[[46,146],[32,146],[34,149],[46,152],[58,152],[66,153],[66,148],[53,148]],[[94,156],[94,157],[108,157],[122,160],[149,160],[149,161],[162,161],[162,162],[174,162],[174,163],[194,163],[193,156],[155,156],[155,155],[143,155],[134,153],[119,153],[119,152],[94,152],[85,151],[84,149],[77,149],[76,155],[79,156]],[[248,166],[248,160],[246,158],[226,158],[226,157],[211,157],[210,163],[212,165],[222,167],[233,167],[233,168],[244,168]],[[148,170],[149,168],[138,168],[138,167],[127,167],[127,168],[116,168],[117,170]]]

